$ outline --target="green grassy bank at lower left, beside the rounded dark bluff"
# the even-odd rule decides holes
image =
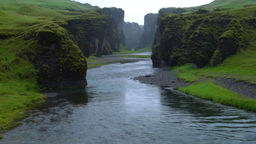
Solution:
[[[1,60],[0,133],[20,125],[18,121],[26,116],[24,113],[28,108],[44,102],[45,96],[38,94],[35,75],[34,66],[22,58],[8,57],[7,62]]]

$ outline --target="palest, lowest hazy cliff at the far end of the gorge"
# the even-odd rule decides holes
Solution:
[[[123,30],[125,36],[125,45],[128,48],[134,48],[138,46],[140,37],[142,35],[142,30],[139,24],[136,22],[124,22]]]

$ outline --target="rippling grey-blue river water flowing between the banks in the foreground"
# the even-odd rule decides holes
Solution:
[[[151,61],[87,71],[85,89],[52,90],[0,144],[255,144],[256,113],[131,78]]]

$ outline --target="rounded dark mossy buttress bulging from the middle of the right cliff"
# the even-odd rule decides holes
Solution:
[[[195,68],[209,64],[217,48],[218,38],[224,31],[222,26],[226,23],[224,21],[224,18],[218,16],[208,16],[200,20],[200,23],[193,23],[197,25],[193,27],[197,28],[188,40],[188,55]]]

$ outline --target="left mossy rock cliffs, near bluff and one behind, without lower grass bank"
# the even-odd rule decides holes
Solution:
[[[54,4],[10,1],[6,5],[16,7],[0,8],[1,48],[10,61],[16,53],[34,65],[36,73],[31,76],[40,88],[85,87],[85,57],[119,52],[124,42],[120,8],[102,9],[70,0]],[[20,69],[26,73],[26,67]]]

